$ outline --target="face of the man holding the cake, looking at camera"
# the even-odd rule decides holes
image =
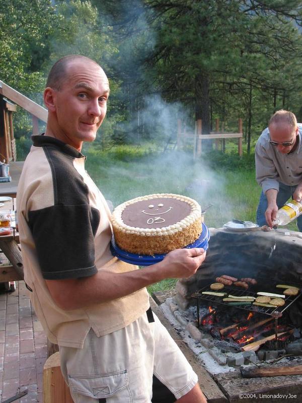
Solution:
[[[97,64],[75,60],[67,65],[66,81],[53,90],[54,119],[50,132],[57,139],[81,150],[92,142],[107,110],[109,83]]]

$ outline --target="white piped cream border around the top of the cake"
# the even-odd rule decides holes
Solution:
[[[191,213],[183,220],[177,222],[176,224],[169,225],[168,227],[163,228],[130,227],[129,225],[126,225],[122,221],[122,213],[127,206],[136,203],[136,201],[149,200],[152,198],[175,198],[176,200],[185,201],[191,207]],[[199,206],[197,201],[190,197],[173,193],[155,193],[155,194],[148,194],[146,196],[135,197],[117,206],[112,213],[112,223],[118,230],[126,234],[136,234],[141,236],[173,235],[192,225],[196,220],[198,220],[198,218],[201,219],[201,207]]]

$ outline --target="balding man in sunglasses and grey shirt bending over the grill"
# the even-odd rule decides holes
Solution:
[[[292,112],[279,110],[270,118],[255,148],[256,179],[262,187],[257,224],[273,226],[276,213],[291,197],[302,200],[302,124]],[[302,232],[302,216],[297,219]]]

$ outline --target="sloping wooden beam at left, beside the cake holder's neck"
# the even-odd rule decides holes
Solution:
[[[32,101],[31,99],[27,98],[20,92],[14,90],[14,88],[5,84],[3,81],[0,81],[0,94],[10,99],[11,101],[15,102],[15,104],[21,106],[27,112],[36,116],[43,122],[47,121],[47,115],[48,115],[47,109],[43,108],[42,106]]]

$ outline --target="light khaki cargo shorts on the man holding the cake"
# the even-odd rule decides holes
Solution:
[[[105,336],[90,329],[83,349],[59,350],[75,403],[149,403],[153,374],[176,399],[197,383],[191,365],[150,309]]]

